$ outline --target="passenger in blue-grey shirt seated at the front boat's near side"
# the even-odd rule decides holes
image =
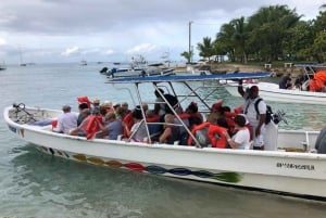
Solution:
[[[109,112],[105,115],[105,125],[98,123],[100,132],[97,133],[97,138],[116,140],[117,136],[123,134],[122,120],[116,118],[115,113]]]

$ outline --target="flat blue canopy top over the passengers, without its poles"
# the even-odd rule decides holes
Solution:
[[[271,77],[268,72],[213,74],[213,75],[175,75],[175,76],[150,76],[150,77],[127,77],[113,78],[106,84],[141,84],[141,82],[177,82],[177,81],[210,81],[210,80],[237,80],[258,79]]]

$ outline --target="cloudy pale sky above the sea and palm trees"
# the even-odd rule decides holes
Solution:
[[[0,63],[173,61],[222,24],[261,7],[287,4],[315,18],[323,0],[10,0],[0,3]],[[197,52],[195,52],[197,53]]]

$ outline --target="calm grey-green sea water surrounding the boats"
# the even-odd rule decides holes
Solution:
[[[135,106],[128,91],[105,84],[99,73],[103,66],[108,64],[9,66],[0,72],[0,108],[25,103],[48,108],[71,104],[76,110],[76,98],[82,95],[128,101],[130,107]],[[152,90],[141,92],[153,100]],[[208,101],[221,99],[231,107],[242,102],[224,90]],[[280,124],[280,128],[318,130],[326,124],[326,106],[268,103],[287,114],[289,124]],[[17,139],[0,116],[0,217],[324,218],[325,206],[321,202],[52,157]]]

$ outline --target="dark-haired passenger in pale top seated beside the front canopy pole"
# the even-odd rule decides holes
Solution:
[[[145,138],[148,138],[148,134],[139,105],[137,105],[131,112],[131,116],[135,121],[131,129],[129,129],[129,127],[126,124],[124,124],[126,136],[133,141],[141,142]]]

